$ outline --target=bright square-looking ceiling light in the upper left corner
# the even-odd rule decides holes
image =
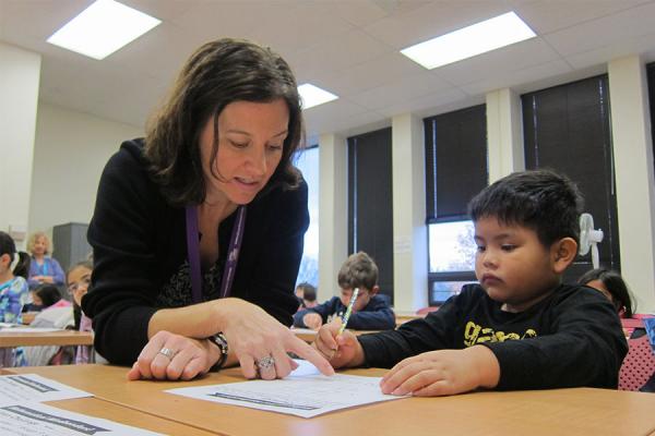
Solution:
[[[105,59],[162,23],[114,0],[97,0],[48,38],[48,43]]]

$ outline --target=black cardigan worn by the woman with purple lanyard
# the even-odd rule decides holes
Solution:
[[[141,140],[121,145],[100,178],[88,228],[95,268],[83,310],[93,318],[96,350],[123,365],[131,365],[146,344],[148,320],[157,310],[192,303],[184,209],[167,204],[146,165]],[[218,229],[219,276],[236,215]],[[308,226],[305,182],[293,191],[274,189],[250,203],[231,296],[290,326],[298,308],[294,288]],[[216,298],[219,277],[203,276],[206,299]]]

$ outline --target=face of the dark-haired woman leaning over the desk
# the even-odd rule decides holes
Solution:
[[[218,116],[218,154],[210,168],[214,119],[201,135],[200,153],[209,203],[250,203],[275,172],[288,134],[289,110],[283,99],[235,101]]]

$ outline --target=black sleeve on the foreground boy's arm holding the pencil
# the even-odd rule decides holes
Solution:
[[[451,332],[461,317],[461,299],[463,294],[452,296],[439,311],[407,322],[396,330],[359,336],[366,364],[390,368],[403,359],[426,351],[454,348]]]

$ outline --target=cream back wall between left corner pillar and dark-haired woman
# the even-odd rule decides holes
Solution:
[[[143,130],[39,101],[29,232],[91,220],[100,173],[124,140]]]

